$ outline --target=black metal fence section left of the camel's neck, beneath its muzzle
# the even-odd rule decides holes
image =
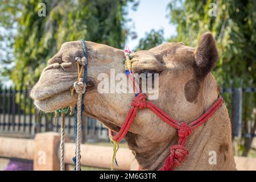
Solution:
[[[60,118],[54,123],[54,113],[42,113],[35,110],[28,89],[0,88],[0,135],[10,137],[33,138],[36,133],[46,131],[60,132]],[[74,117],[69,113],[65,117],[65,131],[74,139]],[[82,118],[82,138],[96,142],[108,140],[108,131],[96,119]]]

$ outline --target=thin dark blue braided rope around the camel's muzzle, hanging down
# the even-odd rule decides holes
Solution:
[[[84,56],[85,56],[85,64],[84,64],[84,78],[83,78],[83,82],[84,84],[87,84],[87,64],[88,64],[88,54],[87,54],[87,47],[85,44],[84,40],[81,40],[82,43],[82,49],[84,51]],[[82,118],[82,113],[84,112],[84,97],[85,97],[85,93],[82,94],[82,105],[81,105],[81,118]],[[75,107],[75,147],[76,147],[76,141],[77,141],[77,106]],[[75,151],[75,156],[72,158],[73,160],[73,164],[74,164],[74,170],[76,171],[76,155],[77,155],[77,151]],[[80,156],[81,158],[81,156]],[[81,169],[80,169],[81,171]]]

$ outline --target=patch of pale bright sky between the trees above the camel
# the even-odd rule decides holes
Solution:
[[[167,17],[167,5],[170,0],[140,0],[137,11],[129,9],[128,18],[132,19],[134,23],[134,31],[137,32],[138,38],[127,40],[127,46],[130,49],[135,49],[139,43],[139,39],[145,36],[146,32],[151,29],[164,29],[164,38],[170,38],[171,35],[176,35],[176,27],[170,24],[170,18]]]

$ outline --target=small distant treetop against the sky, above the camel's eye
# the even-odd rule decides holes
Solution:
[[[137,50],[148,50],[153,47],[156,47],[164,42],[164,31],[160,29],[155,31],[154,29],[146,33],[144,38],[139,40],[139,45]]]

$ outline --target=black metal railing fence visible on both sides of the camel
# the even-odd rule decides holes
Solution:
[[[228,106],[233,137],[255,137],[256,88],[221,88],[220,93]],[[28,97],[28,89],[0,88],[0,135],[32,138],[36,133],[60,130],[60,122],[53,125],[53,113],[40,113]],[[66,115],[66,131],[74,138],[74,118]],[[249,123],[249,125],[248,125]],[[108,131],[95,119],[82,120],[84,140],[108,140]]]

